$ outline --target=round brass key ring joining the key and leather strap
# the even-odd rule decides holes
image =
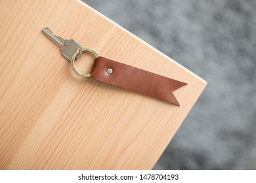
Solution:
[[[74,71],[75,75],[80,76],[82,78],[89,78],[89,77],[91,77],[91,73],[83,74],[83,73],[80,73],[79,71],[77,71],[77,69],[75,68],[75,58],[79,54],[79,52],[80,52],[80,50],[76,50],[75,53],[73,54],[73,56],[71,58],[71,68]],[[91,48],[82,48],[82,52],[90,52],[95,56],[95,58],[99,57],[99,54]]]

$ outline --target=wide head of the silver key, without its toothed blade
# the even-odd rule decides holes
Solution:
[[[75,59],[79,59],[82,56],[82,46],[76,42],[74,39],[66,39],[64,42],[64,46],[61,46],[62,55],[71,61],[72,56],[76,52],[76,50],[80,50],[79,54]]]

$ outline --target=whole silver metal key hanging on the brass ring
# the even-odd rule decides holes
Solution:
[[[76,50],[80,50],[79,54],[75,59],[79,59],[82,56],[82,46],[76,42],[74,39],[63,39],[62,37],[56,36],[53,32],[48,28],[43,28],[43,33],[47,35],[51,40],[53,40],[60,49],[62,50],[62,55],[71,61],[72,56],[76,52]]]

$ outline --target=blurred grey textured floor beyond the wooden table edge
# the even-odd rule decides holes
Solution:
[[[154,169],[256,169],[255,0],[83,0],[208,86]]]

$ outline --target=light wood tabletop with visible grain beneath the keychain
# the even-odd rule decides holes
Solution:
[[[43,27],[187,82],[173,92],[181,106],[79,78]],[[1,1],[0,30],[0,169],[152,169],[206,86],[80,1]]]

